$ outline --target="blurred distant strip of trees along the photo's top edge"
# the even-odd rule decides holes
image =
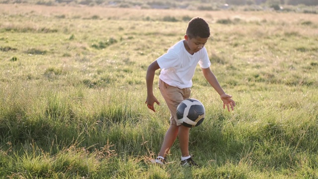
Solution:
[[[218,10],[220,7],[229,6],[266,5],[277,10],[276,8],[279,9],[282,5],[317,6],[318,0],[0,0],[0,3],[36,3],[43,5],[66,3],[110,5],[114,7],[140,6],[142,8],[187,8],[191,5],[199,5],[198,9],[200,10]],[[318,10],[314,11],[318,13]]]

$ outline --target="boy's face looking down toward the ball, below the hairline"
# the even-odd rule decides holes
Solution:
[[[194,54],[201,50],[205,43],[208,41],[209,37],[207,38],[201,38],[201,37],[195,37],[195,38],[189,38],[188,35],[184,35],[184,47],[185,49],[190,53]]]

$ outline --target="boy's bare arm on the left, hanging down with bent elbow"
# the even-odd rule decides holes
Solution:
[[[157,60],[151,63],[147,69],[147,75],[146,75],[146,83],[147,83],[147,99],[146,99],[146,104],[149,109],[153,110],[156,112],[154,104],[155,102],[160,105],[159,101],[157,98],[154,96],[153,93],[153,85],[154,85],[154,78],[155,78],[155,72],[158,70],[160,67],[157,63]]]

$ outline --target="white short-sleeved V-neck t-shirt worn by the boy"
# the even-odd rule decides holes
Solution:
[[[170,47],[157,62],[161,69],[159,78],[166,84],[180,89],[192,87],[192,78],[198,63],[201,68],[209,68],[211,65],[205,47],[191,55],[185,49],[183,40]]]

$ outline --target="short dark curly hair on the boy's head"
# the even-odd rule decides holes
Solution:
[[[186,34],[190,39],[196,37],[210,37],[209,24],[201,17],[194,17],[189,21]]]

